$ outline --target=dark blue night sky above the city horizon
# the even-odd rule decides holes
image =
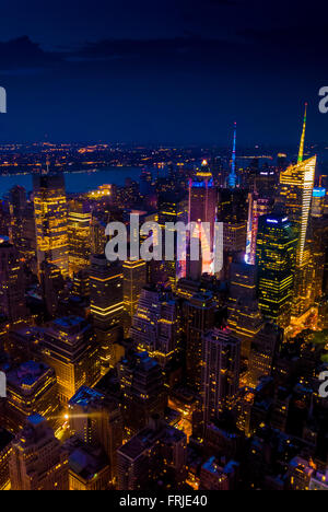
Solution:
[[[327,1],[1,3],[2,141],[327,141]]]

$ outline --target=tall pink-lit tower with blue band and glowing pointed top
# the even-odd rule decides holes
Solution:
[[[197,171],[194,179],[189,182],[189,222],[200,226],[201,222],[210,223],[210,236],[198,232],[194,234],[202,244],[202,258],[199,261],[189,260],[188,275],[198,279],[202,274],[213,274],[212,253],[214,245],[214,223],[216,220],[216,188],[214,187],[212,173],[204,160],[201,168]],[[184,276],[180,276],[184,277]]]

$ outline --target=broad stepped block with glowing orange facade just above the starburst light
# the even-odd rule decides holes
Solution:
[[[90,324],[70,316],[55,319],[44,329],[42,353],[57,375],[60,403],[69,399],[83,385],[98,379],[98,349]]]

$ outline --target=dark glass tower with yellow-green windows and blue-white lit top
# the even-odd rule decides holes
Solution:
[[[259,306],[281,327],[291,318],[296,244],[297,235],[286,217],[260,217],[256,252]]]

